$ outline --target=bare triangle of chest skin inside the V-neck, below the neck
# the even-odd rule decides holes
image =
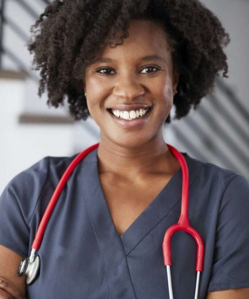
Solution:
[[[105,200],[120,236],[156,198],[170,178],[161,176],[147,183],[117,183],[108,176],[100,175]]]

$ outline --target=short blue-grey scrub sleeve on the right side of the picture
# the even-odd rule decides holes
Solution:
[[[235,288],[249,288],[249,182],[242,175],[223,193],[208,291]]]

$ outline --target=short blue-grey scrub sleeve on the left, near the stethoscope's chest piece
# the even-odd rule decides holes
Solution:
[[[29,222],[46,181],[47,163],[45,157],[17,174],[0,196],[0,245],[22,257],[29,252]]]

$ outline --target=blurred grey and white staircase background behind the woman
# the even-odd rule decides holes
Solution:
[[[92,119],[74,122],[67,105],[38,97],[37,72],[26,42],[30,25],[50,0],[0,0],[0,193],[44,156],[70,156],[99,141]],[[249,179],[249,1],[203,0],[230,33],[229,79],[186,118],[165,125],[165,142]],[[174,111],[172,111],[173,117]]]

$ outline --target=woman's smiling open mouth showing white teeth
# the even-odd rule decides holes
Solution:
[[[118,109],[107,109],[108,112],[117,119],[125,121],[133,121],[136,119],[144,118],[151,110],[151,107],[139,108],[135,110],[118,110]]]

